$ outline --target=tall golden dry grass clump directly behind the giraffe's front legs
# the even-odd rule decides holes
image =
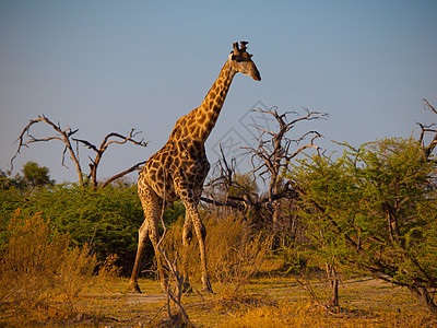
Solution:
[[[253,233],[243,218],[228,213],[203,215],[206,229],[208,271],[213,282],[226,283],[237,289],[256,273],[270,251],[271,238]],[[174,223],[164,241],[169,253],[182,254],[184,219]],[[196,234],[188,251],[188,273],[190,281],[200,281],[200,253]]]

